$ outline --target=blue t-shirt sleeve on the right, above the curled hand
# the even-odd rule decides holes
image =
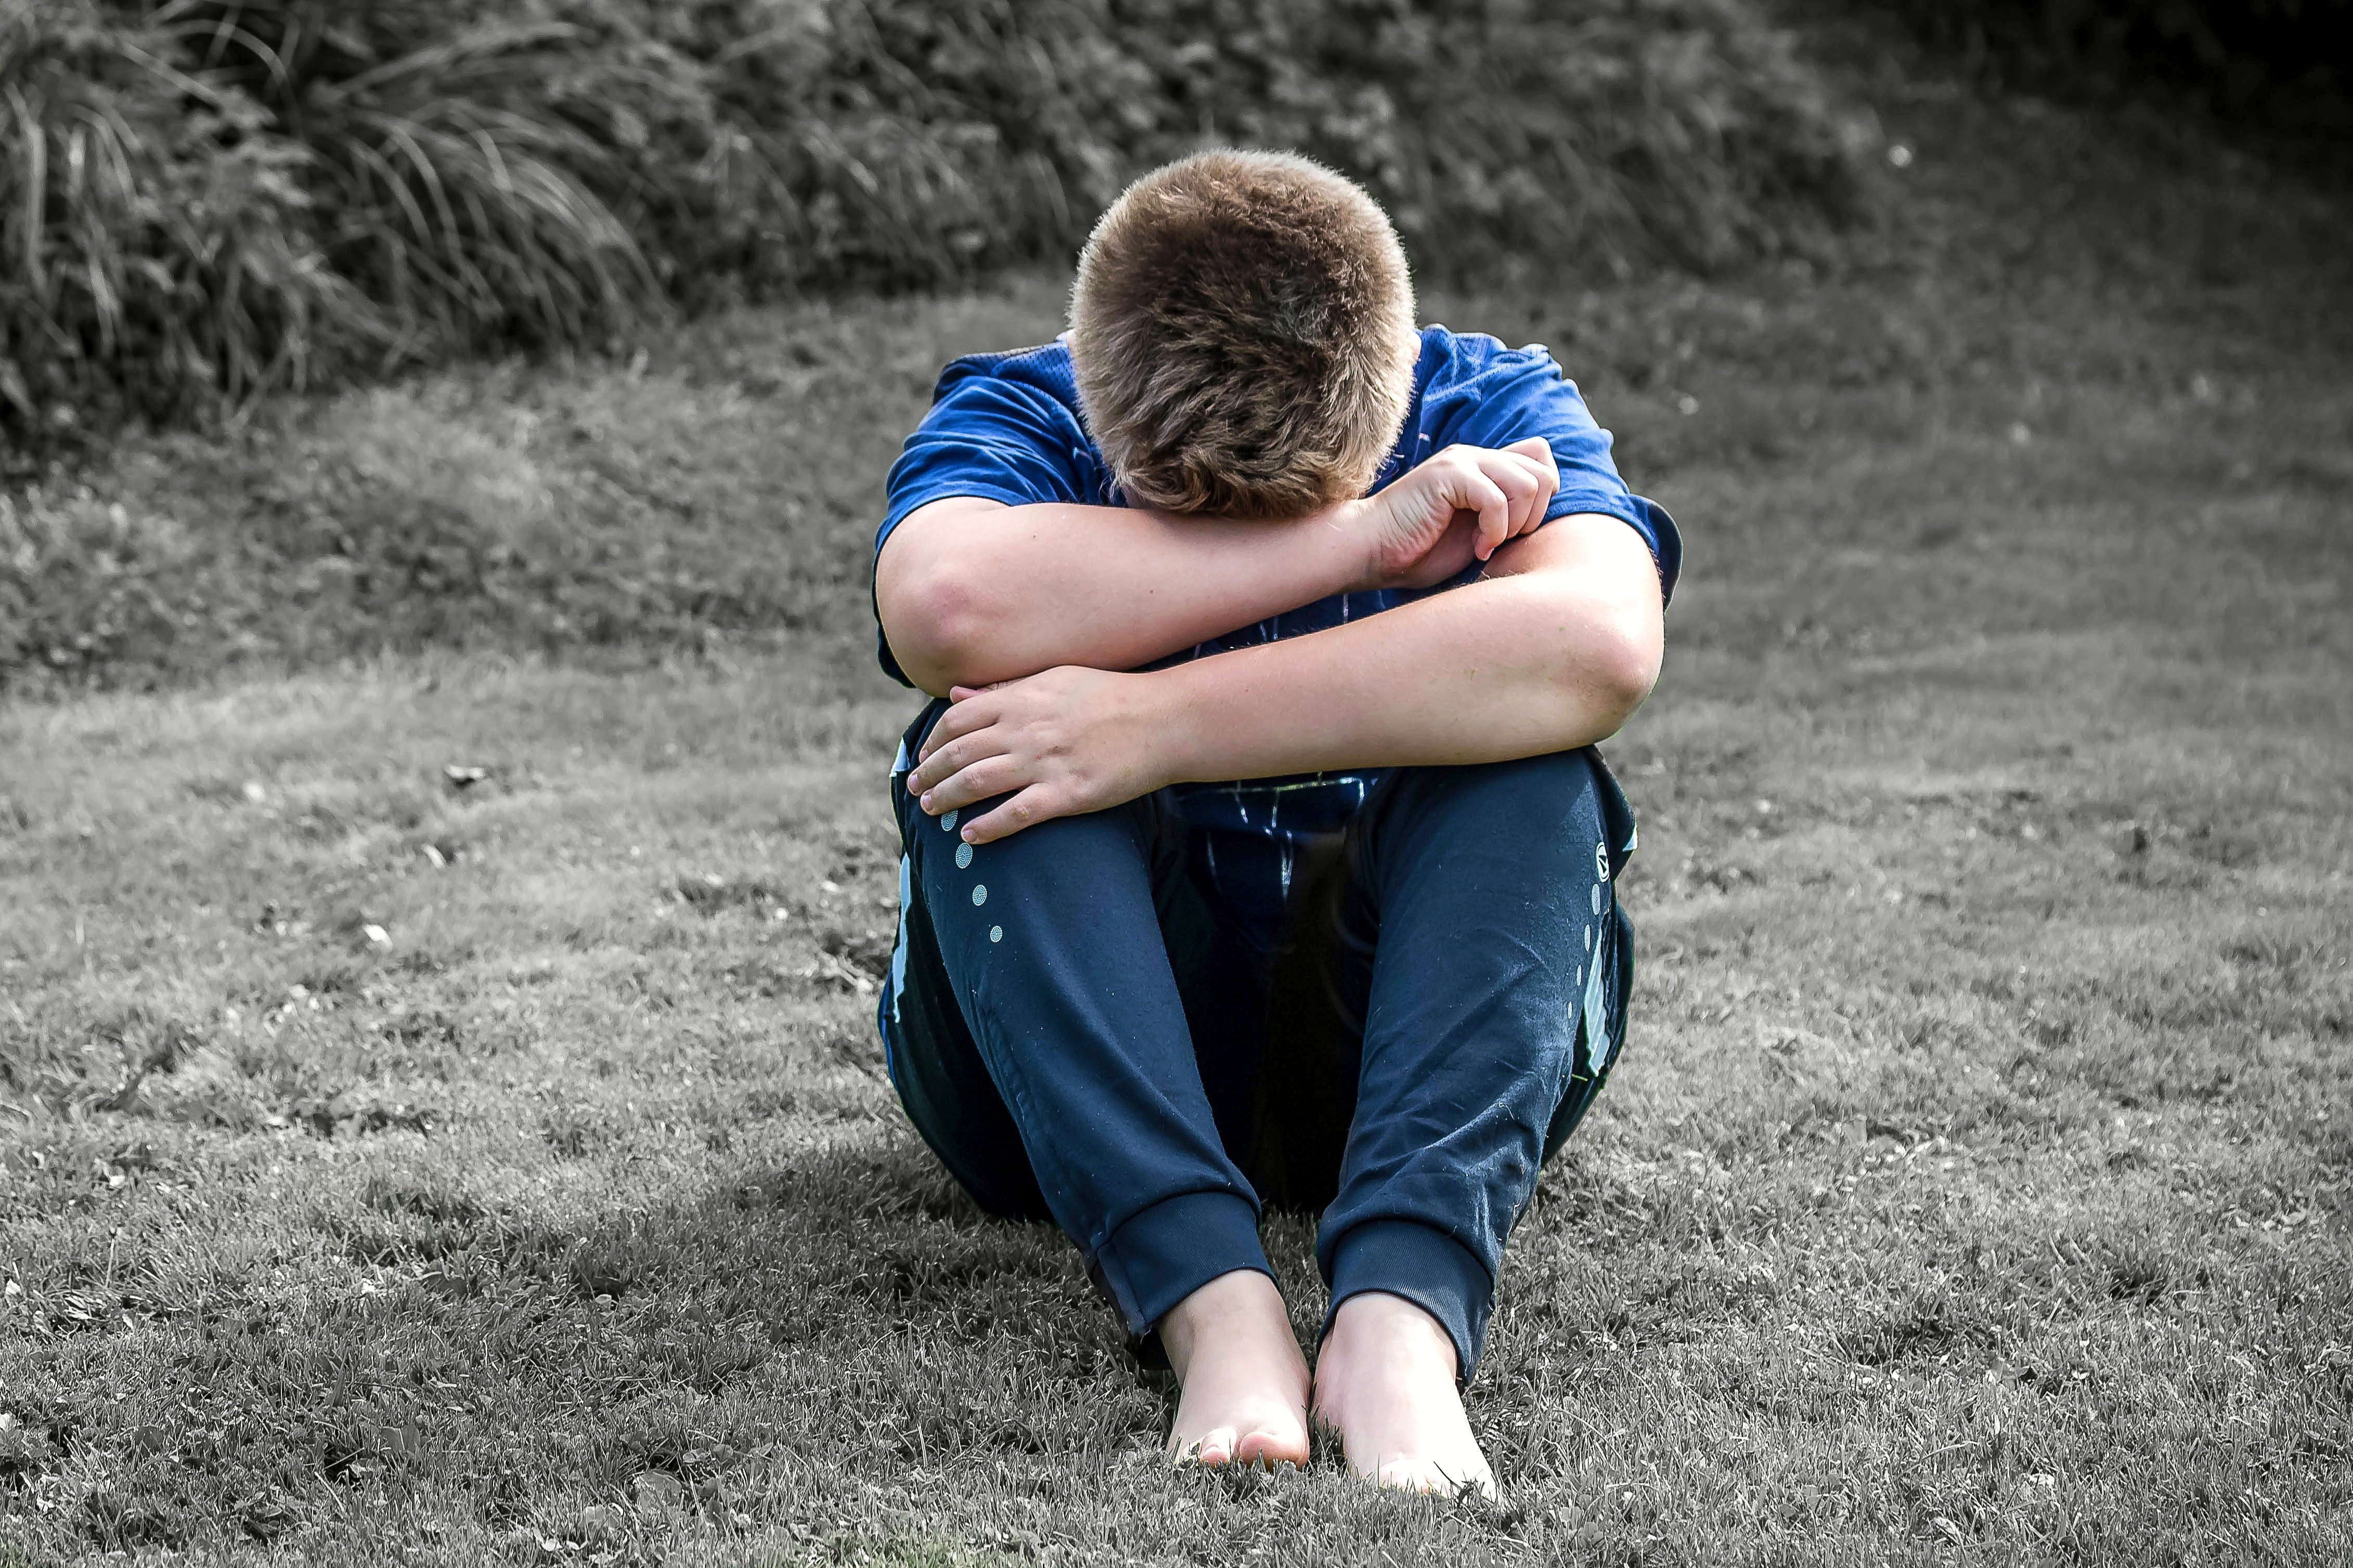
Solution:
[[[1682,571],[1682,536],[1675,520],[1657,501],[1626,489],[1609,458],[1609,433],[1593,421],[1593,411],[1560,362],[1544,348],[1497,346],[1482,364],[1468,369],[1466,378],[1442,393],[1431,449],[1511,447],[1541,435],[1553,447],[1553,465],[1560,468],[1560,489],[1544,520],[1572,512],[1624,520],[1649,545],[1659,564],[1659,588],[1673,597],[1675,576]]]

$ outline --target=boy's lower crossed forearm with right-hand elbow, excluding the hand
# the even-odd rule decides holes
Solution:
[[[1567,564],[1593,552],[1638,555],[1642,590],[1628,592],[1624,571]],[[1508,571],[1537,555],[1558,564]],[[1499,562],[1506,574],[1454,592],[1144,677],[1169,715],[1165,773],[1501,762],[1617,733],[1659,675],[1647,550],[1617,520],[1574,517]]]

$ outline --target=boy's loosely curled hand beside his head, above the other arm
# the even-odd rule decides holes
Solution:
[[[1558,489],[1553,447],[1541,435],[1501,451],[1447,447],[1388,489],[1351,503],[1372,534],[1367,585],[1445,583],[1506,541],[1532,534]]]

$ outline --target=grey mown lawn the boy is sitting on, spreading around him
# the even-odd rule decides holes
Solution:
[[[798,625],[0,708],[0,1561],[2344,1563],[2344,216],[1880,115],[1880,270],[1435,301],[1555,343],[1692,541],[1612,748],[1631,1056],[1473,1389],[1508,1512],[1165,1469],[1071,1248],[882,1081],[864,531],[1045,280],[285,437],[522,531],[659,498]]]

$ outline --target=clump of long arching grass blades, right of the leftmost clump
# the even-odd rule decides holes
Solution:
[[[318,242],[395,357],[598,341],[652,296],[614,197],[633,101],[593,31],[454,0],[172,0],[181,52],[301,148]]]

